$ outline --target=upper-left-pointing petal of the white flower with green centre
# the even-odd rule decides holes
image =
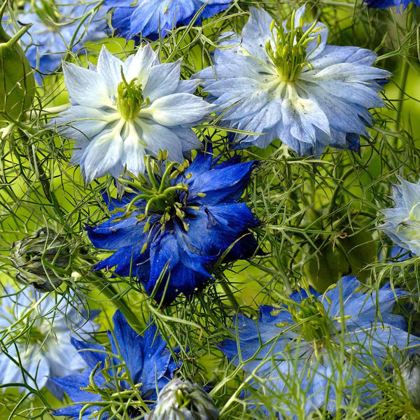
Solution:
[[[112,105],[106,95],[105,80],[100,74],[66,62],[63,63],[63,73],[71,104],[90,108]]]

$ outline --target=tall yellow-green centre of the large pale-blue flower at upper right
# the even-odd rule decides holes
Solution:
[[[283,25],[277,25],[273,20],[270,27],[272,31],[272,39],[265,44],[267,55],[276,66],[279,78],[284,82],[294,82],[302,73],[304,66],[311,64],[308,62],[307,45],[314,40],[316,32],[321,28],[316,28],[314,22],[306,31],[303,29],[303,19],[300,18],[299,25],[295,27],[295,10],[293,10],[288,25],[290,31],[285,29]],[[274,48],[272,43],[274,43]],[[318,35],[318,45],[321,43],[321,35]],[[317,45],[317,46],[318,46]]]

